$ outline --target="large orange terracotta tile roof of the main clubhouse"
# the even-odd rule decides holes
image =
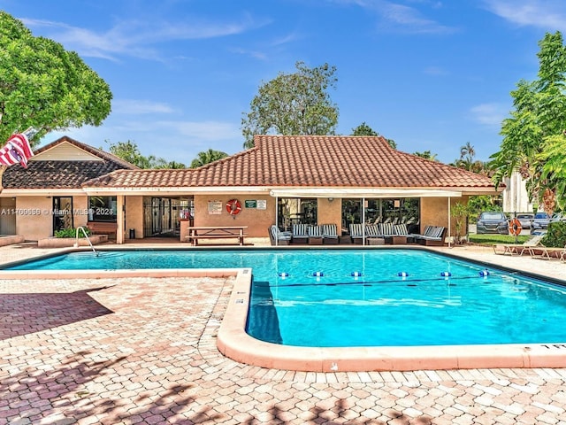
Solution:
[[[381,136],[257,135],[255,142],[196,169],[120,170],[83,186],[493,189],[486,176],[396,151]]]

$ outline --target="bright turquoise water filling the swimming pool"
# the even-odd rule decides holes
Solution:
[[[276,344],[566,341],[566,288],[428,251],[103,251],[11,269],[226,267],[253,269],[247,331]]]

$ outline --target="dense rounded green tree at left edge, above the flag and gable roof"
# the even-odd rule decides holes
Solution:
[[[51,130],[99,126],[111,112],[111,90],[73,51],[34,37],[0,11],[0,141],[29,127]]]

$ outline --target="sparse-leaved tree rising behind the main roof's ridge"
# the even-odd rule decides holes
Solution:
[[[327,92],[334,88],[335,66],[315,68],[295,64],[296,73],[279,73],[259,87],[250,112],[241,119],[244,148],[254,145],[254,135],[333,135],[338,107]]]

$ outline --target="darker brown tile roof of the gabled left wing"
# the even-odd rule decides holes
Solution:
[[[59,143],[68,142],[84,151],[95,155],[102,161],[57,161],[57,160],[30,160],[27,168],[20,165],[10,166],[4,171],[2,185],[4,189],[80,189],[83,182],[94,179],[103,174],[128,168],[139,169],[111,153],[77,142],[69,137],[61,137],[55,142],[35,150],[37,156]]]

